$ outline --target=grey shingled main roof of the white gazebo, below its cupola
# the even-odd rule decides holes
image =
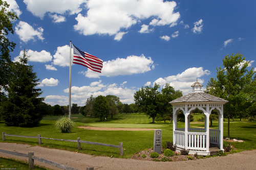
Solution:
[[[226,103],[228,101],[218,98],[214,95],[204,93],[204,92],[193,92],[193,93],[184,95],[178,99],[175,99],[169,103],[184,103],[184,102],[223,102],[223,103]]]

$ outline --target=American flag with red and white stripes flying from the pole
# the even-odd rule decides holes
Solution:
[[[74,64],[80,64],[88,67],[93,71],[101,72],[101,69],[103,66],[102,60],[100,60],[99,58],[91,54],[81,51],[74,44],[73,44],[73,48],[74,48],[74,58],[73,58]]]

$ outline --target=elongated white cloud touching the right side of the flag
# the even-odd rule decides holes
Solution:
[[[116,60],[104,61],[101,74],[92,70],[81,71],[81,74],[89,78],[99,78],[100,76],[115,77],[119,75],[140,74],[154,69],[154,61],[151,57],[128,56],[126,59],[117,58]]]

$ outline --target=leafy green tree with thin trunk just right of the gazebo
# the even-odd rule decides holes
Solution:
[[[227,55],[223,68],[217,68],[217,79],[211,78],[206,91],[209,94],[229,101],[224,105],[224,116],[228,118],[228,138],[230,137],[230,118],[255,109],[256,82],[255,71],[248,70],[249,61],[241,54]]]

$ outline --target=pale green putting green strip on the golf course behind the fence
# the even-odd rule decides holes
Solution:
[[[102,127],[102,128],[154,128],[154,129],[160,129],[163,127],[168,127],[168,125],[154,125],[154,124],[102,124],[102,123],[92,123],[92,124],[86,124],[86,126],[92,126],[92,127]]]

